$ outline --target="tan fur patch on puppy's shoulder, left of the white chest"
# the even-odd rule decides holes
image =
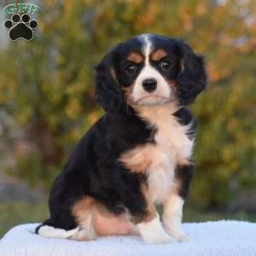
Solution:
[[[148,143],[125,152],[119,161],[131,172],[145,173],[151,164],[152,154],[154,145]]]

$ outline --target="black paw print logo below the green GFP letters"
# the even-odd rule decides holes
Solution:
[[[33,38],[33,31],[38,28],[37,20],[30,20],[30,15],[18,14],[12,15],[10,20],[5,20],[4,26],[9,29],[9,39],[16,41],[18,39],[25,39],[31,41]]]

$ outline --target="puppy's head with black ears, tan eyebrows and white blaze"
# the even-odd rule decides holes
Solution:
[[[96,97],[106,111],[124,104],[187,105],[206,85],[201,55],[181,40],[154,34],[118,44],[96,67]]]

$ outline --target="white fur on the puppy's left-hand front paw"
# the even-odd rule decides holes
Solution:
[[[137,228],[145,243],[167,243],[174,241],[164,230],[158,214],[151,221],[137,224]]]

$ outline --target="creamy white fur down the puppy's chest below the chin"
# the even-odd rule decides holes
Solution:
[[[148,166],[148,189],[155,203],[165,201],[175,189],[175,169],[189,161],[193,141],[186,132],[189,125],[181,125],[172,115],[177,108],[170,104],[141,109],[140,114],[157,129],[155,145],[151,148],[151,164]]]

